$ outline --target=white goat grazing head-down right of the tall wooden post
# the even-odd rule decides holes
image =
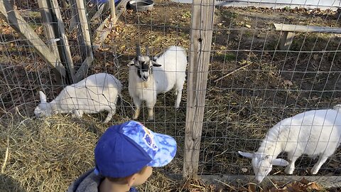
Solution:
[[[255,153],[238,151],[252,159],[256,181],[259,183],[267,176],[272,166],[287,166],[286,174],[293,174],[295,161],[303,154],[319,156],[318,162],[311,169],[317,174],[320,167],[340,145],[341,113],[340,105],[333,110],[310,110],[281,120],[272,127]],[[340,111],[341,112],[341,111]],[[288,161],[276,159],[286,151]]]

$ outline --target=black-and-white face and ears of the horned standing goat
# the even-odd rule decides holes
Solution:
[[[160,64],[156,63],[156,60],[152,60],[148,56],[137,56],[128,65],[136,67],[137,76],[143,81],[148,81],[149,75],[153,73],[153,67],[161,67]]]

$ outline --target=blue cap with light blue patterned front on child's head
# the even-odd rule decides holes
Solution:
[[[109,127],[94,148],[95,174],[122,178],[144,166],[165,166],[176,153],[176,142],[135,121]]]

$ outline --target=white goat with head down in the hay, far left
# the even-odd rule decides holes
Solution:
[[[36,117],[49,117],[53,114],[82,114],[109,112],[105,123],[116,112],[117,97],[121,95],[122,85],[114,75],[98,73],[65,87],[55,100],[46,102],[46,95],[39,92],[40,104],[34,110]]]

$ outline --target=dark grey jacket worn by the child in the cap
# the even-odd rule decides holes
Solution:
[[[77,178],[69,188],[67,192],[98,192],[99,184],[104,178],[94,174],[94,169],[90,169],[85,174]],[[138,192],[136,188],[130,188],[129,192]]]

